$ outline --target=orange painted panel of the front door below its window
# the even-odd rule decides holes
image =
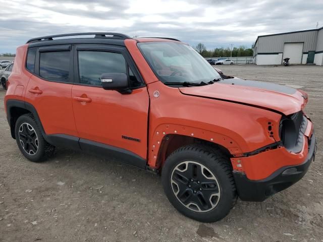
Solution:
[[[90,102],[75,97],[90,98]],[[147,157],[147,88],[123,95],[100,87],[74,85],[73,109],[78,137],[130,150]],[[122,135],[140,142],[123,139]]]

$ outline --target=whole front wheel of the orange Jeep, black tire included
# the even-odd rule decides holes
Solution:
[[[199,179],[196,178],[198,177],[198,175],[195,177],[193,176],[192,179],[186,179],[187,177],[183,175],[184,172],[190,173],[189,171],[191,170],[195,170],[196,172],[196,170],[198,169],[194,167],[193,169],[189,168],[190,162],[193,162],[193,166],[196,164],[196,167],[201,167],[202,173],[204,173],[202,174],[202,176],[205,176],[205,174],[209,173],[210,171],[211,178],[208,178],[206,176],[205,178],[211,180],[215,177],[216,179],[214,180],[214,186],[206,187],[207,182],[203,181],[204,177],[200,182],[196,180]],[[200,222],[215,222],[221,220],[222,218],[227,216],[227,214],[230,212],[237,201],[235,181],[229,162],[229,157],[224,155],[220,150],[211,149],[208,146],[188,145],[179,148],[166,159],[166,162],[163,166],[163,171],[161,173],[161,180],[166,196],[180,213],[189,218],[195,219]],[[185,168],[183,170],[178,169],[178,167],[180,167],[182,164],[184,165],[183,167],[187,165],[186,170]],[[178,175],[176,174],[176,172],[178,171],[180,171],[179,173],[182,172],[181,175],[183,176],[180,175],[178,177],[180,177],[180,179],[184,181],[183,184],[181,183],[180,185],[181,187],[184,187],[184,189],[180,189],[177,183],[174,183],[174,181],[178,181],[178,177],[174,178]],[[175,176],[173,176],[173,174]],[[193,179],[194,181],[192,182]],[[215,181],[217,181],[217,183]],[[217,185],[219,186],[218,188]],[[198,188],[197,186],[200,186],[200,188]],[[220,196],[217,195],[216,197],[214,196],[214,194],[211,194],[211,192],[209,191],[211,191],[212,189],[214,190],[214,193],[220,194]],[[181,198],[178,198],[180,196],[177,197],[178,194],[183,194],[181,190],[185,191],[185,194],[187,193],[187,195],[184,194],[185,200],[188,200],[187,202],[185,201],[185,204],[182,203],[183,196]],[[208,196],[207,194],[210,195]],[[211,201],[213,197],[216,197],[217,200],[214,201],[216,203],[215,207],[213,207],[214,202]],[[201,200],[204,202],[201,202],[199,206],[196,206],[197,203],[195,203],[194,205],[194,201]],[[209,207],[209,205],[211,205],[211,207]]]

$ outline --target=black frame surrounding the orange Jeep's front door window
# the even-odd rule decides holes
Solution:
[[[146,86],[135,62],[133,61],[130,53],[128,52],[126,47],[123,46],[116,46],[110,44],[76,44],[74,45],[74,85],[79,86],[88,86],[88,87],[97,87],[102,88],[101,85],[91,85],[91,84],[83,84],[80,83],[80,76],[79,76],[79,65],[78,65],[78,51],[101,51],[101,52],[113,52],[122,54],[125,61],[126,61],[126,71],[127,76],[129,78],[129,68],[131,69],[133,75],[137,78],[138,81],[141,82],[141,85],[138,87],[130,87],[131,90],[143,88]],[[127,68],[128,67],[128,68]]]

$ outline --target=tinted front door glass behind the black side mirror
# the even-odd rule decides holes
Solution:
[[[126,60],[121,53],[103,51],[79,51],[80,83],[100,86],[103,73],[127,74]]]

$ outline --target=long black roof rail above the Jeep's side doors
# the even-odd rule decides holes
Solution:
[[[94,35],[94,38],[131,39],[128,35],[120,34],[120,33],[88,32],[88,33],[58,34],[58,35],[49,35],[49,36],[37,37],[37,38],[29,39],[26,42],[26,44],[33,43],[33,42],[39,42],[39,41],[53,40],[53,38],[58,38],[58,37],[79,36],[79,35]],[[108,36],[106,36],[106,35],[108,35]],[[112,36],[112,37],[110,37],[110,36]]]

